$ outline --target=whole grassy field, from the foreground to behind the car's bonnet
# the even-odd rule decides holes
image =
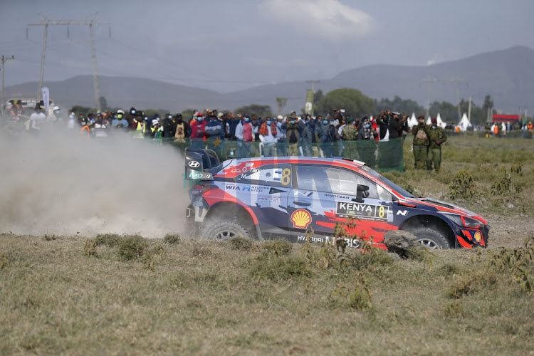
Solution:
[[[435,174],[411,168],[407,143],[407,171],[387,173],[450,201],[469,172],[473,194],[456,201],[488,217],[484,250],[401,260],[284,241],[5,231],[0,354],[531,355],[533,145],[451,137]]]

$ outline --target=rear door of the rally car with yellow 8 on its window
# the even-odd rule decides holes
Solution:
[[[252,163],[251,163],[252,164]],[[236,197],[251,208],[262,236],[288,237],[287,201],[291,190],[290,164],[241,167],[236,178]]]

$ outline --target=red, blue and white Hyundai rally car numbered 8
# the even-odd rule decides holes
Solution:
[[[429,198],[418,198],[364,162],[345,158],[256,157],[219,162],[211,150],[186,149],[189,199],[186,217],[198,236],[230,239],[286,238],[333,243],[345,224],[347,245],[406,230],[429,248],[486,247],[490,226],[482,216]],[[347,226],[347,221],[354,224]]]

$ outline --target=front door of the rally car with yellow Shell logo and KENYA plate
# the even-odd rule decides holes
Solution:
[[[347,244],[359,247],[361,239],[382,243],[384,233],[394,228],[391,194],[362,174],[341,167],[295,164],[295,176],[295,189],[288,196],[288,225],[295,241],[305,241],[310,226],[312,241],[331,243],[335,224],[350,222]],[[358,194],[359,185],[367,187],[363,194]]]

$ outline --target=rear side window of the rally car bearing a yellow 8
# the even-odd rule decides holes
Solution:
[[[244,167],[237,176],[238,183],[268,185],[271,187],[291,187],[290,164],[269,164],[258,168]]]

